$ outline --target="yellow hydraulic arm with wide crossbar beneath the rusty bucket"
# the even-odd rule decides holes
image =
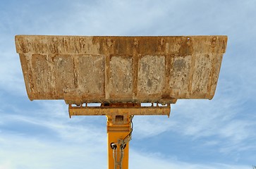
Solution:
[[[69,106],[72,115],[106,115],[107,151],[109,169],[128,169],[129,142],[133,132],[134,115],[170,115],[170,105],[141,106],[141,104],[119,103],[101,106]]]

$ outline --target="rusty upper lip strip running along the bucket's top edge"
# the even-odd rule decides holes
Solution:
[[[226,44],[228,37],[226,35],[184,35],[184,36],[76,36],[76,35],[16,35],[16,52],[18,54],[25,53],[39,53],[39,54],[84,54],[84,44],[90,45],[94,48],[96,53],[99,48],[104,45],[106,48],[119,49],[121,46],[126,46],[128,49],[143,48],[141,44],[149,44],[152,48],[161,46],[162,49],[157,49],[157,52],[167,54],[164,46],[169,43],[178,44],[178,46],[189,47],[193,44],[200,44],[204,42],[205,50],[210,51],[211,48],[221,48],[221,50],[213,50],[213,53],[224,54],[226,52]],[[66,43],[64,46],[63,43]],[[171,44],[170,44],[171,43]],[[181,45],[182,44],[182,45]],[[58,49],[52,51],[54,46],[58,46]],[[195,46],[195,45],[194,45]],[[123,48],[124,49],[124,48]],[[170,49],[172,50],[172,49]],[[197,49],[200,51],[200,49]],[[149,51],[152,52],[152,51]],[[172,51],[171,51],[172,52]],[[204,51],[202,51],[204,52]],[[142,53],[147,51],[142,50]],[[101,53],[104,54],[104,53]]]

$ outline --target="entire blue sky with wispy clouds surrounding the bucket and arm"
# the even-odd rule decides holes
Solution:
[[[228,35],[214,99],[136,116],[130,168],[256,165],[256,1],[0,2],[0,169],[106,168],[106,118],[29,101],[15,35]]]

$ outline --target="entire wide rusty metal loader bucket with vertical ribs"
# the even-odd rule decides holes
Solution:
[[[226,36],[16,36],[29,99],[67,104],[212,99],[226,43]]]

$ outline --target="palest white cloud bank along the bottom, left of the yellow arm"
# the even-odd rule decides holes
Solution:
[[[6,140],[0,142],[0,166],[6,169],[106,167],[102,144],[49,142],[22,135],[1,137]],[[92,143],[94,141],[97,140],[94,138]]]

